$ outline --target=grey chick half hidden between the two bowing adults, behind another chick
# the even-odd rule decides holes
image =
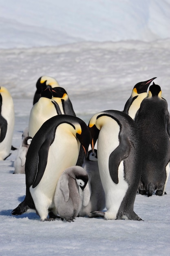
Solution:
[[[84,158],[82,167],[88,173],[88,183],[84,191],[80,190],[82,207],[78,216],[93,217],[93,211],[102,211],[105,208],[105,195],[99,174],[97,162],[97,150],[88,151],[88,157]]]

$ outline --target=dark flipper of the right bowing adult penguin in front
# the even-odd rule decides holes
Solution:
[[[110,154],[109,157],[109,172],[110,177],[112,178],[113,182],[115,184],[119,183],[118,179],[118,168],[119,164],[122,160],[124,160],[126,157],[128,157],[130,153],[130,143],[127,140],[127,138],[121,137],[121,141],[119,146]],[[113,164],[113,162],[115,164]]]

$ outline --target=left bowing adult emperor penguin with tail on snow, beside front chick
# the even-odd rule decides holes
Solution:
[[[85,152],[91,141],[88,127],[78,117],[56,115],[48,119],[33,137],[26,163],[26,196],[12,215],[35,210],[42,221],[54,213],[53,196],[62,172],[75,166],[80,143]]]

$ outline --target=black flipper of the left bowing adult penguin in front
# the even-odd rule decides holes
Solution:
[[[35,180],[33,182],[33,186],[32,186],[33,188],[35,188],[40,183],[40,180],[44,175],[44,171],[45,171],[47,159],[48,159],[49,147],[50,147],[50,143],[49,141],[46,140],[44,141],[44,143],[42,144],[38,152],[38,168],[37,168],[37,174],[36,174]]]

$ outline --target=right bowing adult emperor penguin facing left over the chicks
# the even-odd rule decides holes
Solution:
[[[92,149],[97,141],[99,173],[107,211],[94,212],[105,219],[141,220],[133,211],[141,177],[139,133],[126,113],[106,110],[95,114],[89,124]]]

